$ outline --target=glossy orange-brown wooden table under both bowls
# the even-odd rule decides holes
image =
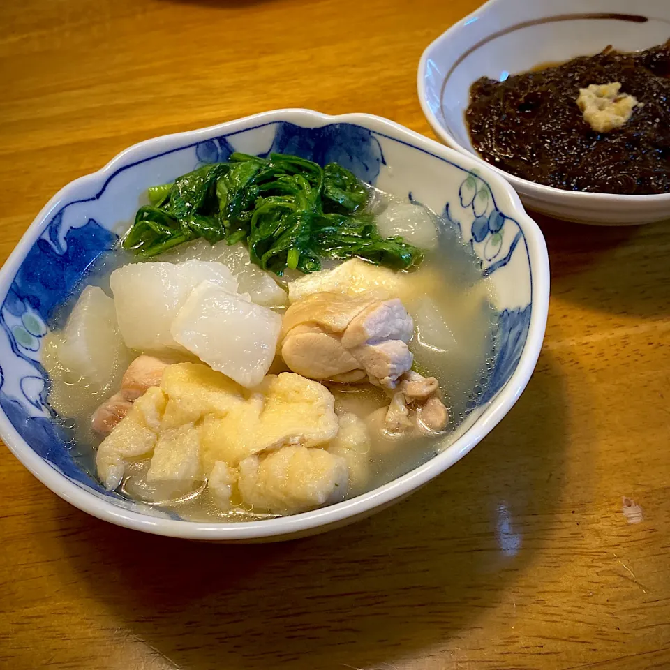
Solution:
[[[3,260],[55,191],[148,137],[278,107],[431,135],[419,55],[477,0],[6,4]],[[670,228],[541,225],[552,297],[526,393],[368,521],[265,546],[151,537],[2,448],[0,667],[670,667]]]

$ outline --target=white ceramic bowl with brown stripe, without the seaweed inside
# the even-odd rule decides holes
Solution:
[[[509,181],[526,207],[578,223],[630,225],[670,218],[670,193],[578,193],[519,179],[479,158],[464,112],[479,77],[502,80],[547,62],[595,54],[607,45],[636,51],[670,38],[667,0],[491,0],[426,48],[419,100],[433,131]]]

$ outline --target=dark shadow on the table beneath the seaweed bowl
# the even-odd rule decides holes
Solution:
[[[620,315],[670,313],[669,222],[597,226],[529,214],[546,239],[553,297]]]

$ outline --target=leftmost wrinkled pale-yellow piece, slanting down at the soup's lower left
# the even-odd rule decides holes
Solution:
[[[124,477],[125,461],[151,454],[156,432],[165,410],[161,389],[151,387],[128,410],[128,414],[107,435],[96,455],[96,467],[105,489],[113,491]]]

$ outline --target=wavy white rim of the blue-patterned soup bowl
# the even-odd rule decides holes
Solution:
[[[82,188],[88,188],[89,191],[94,190],[96,193],[101,193],[101,189],[98,188],[99,184],[102,184],[104,188],[113,172],[127,163],[137,161],[137,158],[141,158],[142,154],[149,149],[151,149],[155,156],[157,148],[162,147],[164,150],[172,149],[173,146],[176,147],[182,144],[184,140],[197,142],[200,139],[211,137],[214,133],[223,134],[223,131],[230,133],[230,131],[234,132],[238,129],[243,130],[252,122],[255,124],[258,121],[272,122],[286,120],[287,118],[294,121],[298,119],[303,123],[315,121],[314,126],[322,126],[329,123],[354,123],[371,128],[377,132],[387,131],[390,135],[405,137],[408,142],[411,142],[410,146],[422,149],[427,154],[447,158],[449,161],[462,165],[466,169],[479,168],[479,163],[471,156],[463,156],[434,140],[430,140],[423,135],[419,135],[419,133],[396,124],[394,121],[376,117],[372,114],[352,113],[329,116],[311,110],[274,110],[253,114],[207,128],[154,137],[121,151],[120,154],[112,158],[101,170],[71,181],[47,202],[26,230],[2,269],[0,269],[0,295],[2,299],[6,296],[8,288],[27,251],[34,244],[38,235],[43,232],[45,225],[50,221],[50,215],[66,198],[69,199],[76,193],[80,193]],[[218,131],[222,132],[218,133]],[[131,158],[132,161],[130,160]],[[318,532],[316,529],[320,526],[332,526],[338,522],[344,523],[345,519],[350,519],[351,517],[372,514],[375,508],[385,507],[394,502],[394,500],[408,495],[410,492],[428,483],[444,470],[447,470],[456,461],[459,461],[500,422],[528,384],[528,380],[533,373],[537,358],[539,357],[540,349],[542,348],[546,315],[549,307],[549,258],[544,237],[535,221],[524,211],[521,201],[518,195],[512,190],[512,187],[504,179],[501,179],[498,174],[492,174],[492,170],[488,165],[486,165],[486,171],[489,172],[486,177],[490,180],[490,183],[498,186],[499,192],[496,189],[496,198],[501,198],[502,202],[507,201],[505,204],[514,211],[516,221],[526,236],[533,281],[533,297],[531,301],[533,309],[528,336],[521,358],[519,359],[519,364],[516,366],[512,377],[500,389],[500,392],[489,401],[489,406],[482,412],[482,415],[477,419],[475,424],[470,426],[470,429],[457,438],[444,451],[436,454],[429,461],[426,461],[426,463],[407,474],[355,498],[292,516],[246,522],[201,523],[197,521],[178,521],[133,512],[132,510],[118,507],[112,502],[98,498],[94,493],[82,489],[82,487],[71,482],[68,477],[36,454],[24,442],[23,438],[10,423],[8,417],[1,411],[0,436],[6,442],[10,451],[40,482],[54,491],[54,493],[57,493],[58,496],[70,502],[71,505],[92,516],[96,516],[98,519],[110,521],[118,526],[169,537],[210,541],[218,540],[220,542],[244,542],[252,539],[271,538],[277,535],[285,536],[297,533],[309,533],[310,531]]]

